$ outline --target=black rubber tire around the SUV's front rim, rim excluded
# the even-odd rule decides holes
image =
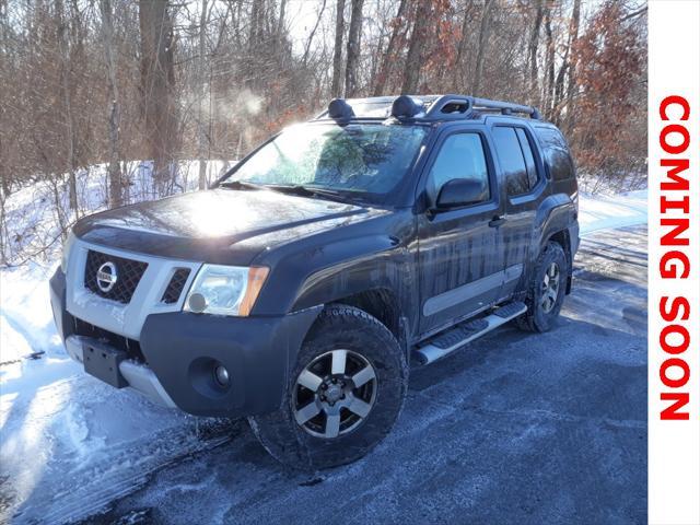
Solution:
[[[370,385],[374,393],[369,413],[355,421],[350,430],[346,429],[342,431],[345,433],[328,439],[310,433],[317,419],[322,421],[319,424],[325,424],[317,429],[318,432],[328,429],[328,420],[325,419],[328,416],[325,412],[318,412],[303,425],[296,422],[295,417],[301,412],[299,396],[311,394],[313,402],[320,402],[318,396],[323,398],[324,394],[320,388],[334,386],[326,383],[331,380],[324,380],[314,394],[298,385],[298,378],[307,366],[320,366],[325,355],[335,349],[347,349],[348,362],[350,355],[360,355],[365,364],[372,364],[376,381],[372,380],[374,383]],[[359,308],[330,305],[318,316],[302,345],[296,366],[290,374],[282,407],[269,415],[248,418],[250,428],[273,457],[293,468],[315,470],[354,462],[368,454],[394,427],[406,397],[408,370],[405,352],[382,323]],[[325,390],[326,394],[328,392]],[[359,390],[352,390],[355,392]],[[345,396],[342,399],[346,399]],[[340,405],[346,401],[337,402]],[[339,410],[343,410],[346,419],[353,417],[345,408]],[[340,429],[347,423],[341,423]]]

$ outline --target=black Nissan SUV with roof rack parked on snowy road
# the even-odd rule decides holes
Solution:
[[[85,372],[242,417],[278,459],[352,462],[389,432],[409,362],[571,289],[574,166],[536,109],[462,95],[335,100],[207,191],[80,220],[50,281]]]

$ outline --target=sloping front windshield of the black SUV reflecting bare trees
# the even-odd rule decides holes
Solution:
[[[385,196],[404,178],[427,130],[382,124],[300,125],[248,159],[232,179]]]

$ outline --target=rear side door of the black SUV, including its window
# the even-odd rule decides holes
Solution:
[[[505,279],[499,292],[500,301],[511,296],[528,261],[537,257],[532,253],[535,219],[548,192],[541,159],[525,122],[497,121],[491,126],[491,137],[505,207],[505,221],[501,226]]]

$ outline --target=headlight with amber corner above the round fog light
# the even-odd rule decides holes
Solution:
[[[250,314],[269,269],[265,267],[203,265],[185,300],[185,312],[197,314]]]

